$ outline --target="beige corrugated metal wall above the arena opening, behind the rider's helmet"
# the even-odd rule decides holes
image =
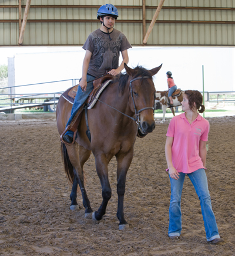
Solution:
[[[143,45],[142,0],[109,2],[116,6],[137,7],[119,8],[115,28],[124,32],[132,45]],[[159,2],[146,0],[146,31]],[[105,3],[98,0],[32,0],[23,45],[83,45],[90,32],[100,27],[96,21],[78,22],[95,20],[98,8],[35,8],[33,5],[100,6]],[[26,0],[22,0],[22,5],[25,4]],[[0,8],[0,45],[18,45],[18,0],[0,1],[0,5],[15,5],[15,8]],[[68,22],[69,19],[73,21]],[[233,46],[234,25],[235,0],[166,0],[147,45]]]

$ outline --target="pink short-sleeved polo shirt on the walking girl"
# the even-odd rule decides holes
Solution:
[[[174,137],[172,163],[177,172],[191,173],[204,168],[199,156],[199,142],[208,140],[209,130],[209,122],[200,114],[192,124],[187,120],[185,113],[170,120],[166,136]]]

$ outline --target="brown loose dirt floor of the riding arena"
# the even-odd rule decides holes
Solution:
[[[116,162],[109,164],[113,195],[99,222],[71,211],[71,186],[63,171],[55,119],[0,121],[0,255],[235,255],[235,116],[210,122],[207,178],[220,245],[207,244],[200,202],[189,178],[182,195],[180,239],[167,237],[170,182],[164,143],[169,120],[144,139],[136,139],[127,173],[125,216],[130,228],[119,231],[116,218]],[[94,157],[85,165],[86,189],[93,210],[101,201]]]

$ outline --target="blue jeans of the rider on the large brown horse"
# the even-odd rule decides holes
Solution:
[[[73,103],[73,107],[71,110],[71,116],[69,117],[68,123],[66,124],[66,127],[72,122],[73,117],[75,116],[75,114],[78,112],[78,110],[80,109],[80,107],[82,106],[83,103],[85,103],[86,99],[88,99],[89,94],[91,93],[91,91],[93,90],[93,80],[95,79],[95,77],[90,76],[89,74],[87,74],[86,76],[86,81],[88,81],[88,86],[86,87],[86,91],[82,91],[82,88],[80,86],[78,86],[78,91]],[[89,81],[91,81],[89,83]],[[68,132],[65,133],[66,135],[69,135],[71,137],[73,137],[73,132],[71,130],[68,130]]]

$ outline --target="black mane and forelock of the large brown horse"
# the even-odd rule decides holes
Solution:
[[[133,79],[136,78],[136,77],[140,77],[140,76],[142,76],[142,77],[145,77],[145,76],[152,77],[152,74],[150,73],[150,71],[146,70],[146,68],[143,68],[142,66],[137,66],[133,70],[135,70],[135,76],[133,76]],[[128,78],[129,78],[129,75],[126,74],[126,73],[125,74],[120,74],[119,78],[117,78],[117,80],[119,82],[118,90],[122,94],[123,94],[124,89],[126,87]]]

